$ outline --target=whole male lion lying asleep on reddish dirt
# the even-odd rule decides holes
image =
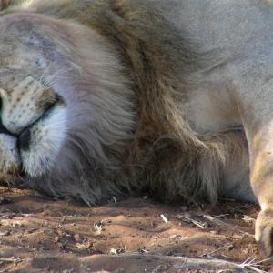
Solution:
[[[0,177],[91,206],[259,203],[272,253],[273,2],[0,1]]]

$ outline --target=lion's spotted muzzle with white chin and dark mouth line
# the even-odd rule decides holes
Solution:
[[[1,75],[1,74],[0,74]],[[37,76],[1,76],[0,179],[39,176],[54,164],[64,139],[62,98]]]

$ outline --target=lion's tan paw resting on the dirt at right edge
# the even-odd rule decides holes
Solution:
[[[258,214],[255,225],[255,239],[267,257],[273,254],[273,210],[261,211]]]

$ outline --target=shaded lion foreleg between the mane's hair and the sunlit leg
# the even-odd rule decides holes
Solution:
[[[250,186],[248,143],[243,130],[218,133],[207,137],[204,142],[209,149],[209,157],[215,162],[214,173],[218,173],[217,196],[257,202]],[[210,162],[207,157],[202,159],[203,172],[206,173]]]

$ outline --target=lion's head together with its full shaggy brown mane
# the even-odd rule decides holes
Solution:
[[[188,162],[205,146],[183,103],[207,57],[147,1],[11,2],[0,14],[0,178],[87,204],[124,189],[199,194]]]

